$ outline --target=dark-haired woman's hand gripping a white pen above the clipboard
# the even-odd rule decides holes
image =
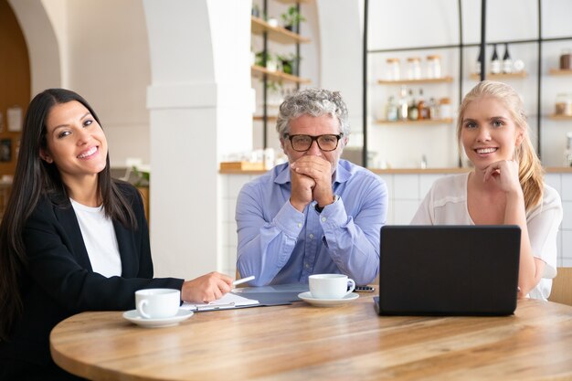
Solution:
[[[185,302],[213,302],[232,289],[232,278],[213,271],[194,280],[185,280],[181,299]]]

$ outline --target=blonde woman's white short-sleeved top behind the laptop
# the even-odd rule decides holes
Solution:
[[[475,225],[467,207],[469,174],[448,175],[436,180],[418,208],[412,225]],[[542,202],[526,212],[526,227],[535,258],[545,261],[538,285],[528,293],[535,299],[550,295],[556,277],[556,235],[562,221],[562,202],[556,190],[544,187]]]

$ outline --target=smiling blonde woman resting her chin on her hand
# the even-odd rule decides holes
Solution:
[[[457,137],[474,169],[437,180],[411,223],[519,226],[518,296],[546,299],[562,203],[544,183],[523,101],[509,85],[480,82],[461,102]]]

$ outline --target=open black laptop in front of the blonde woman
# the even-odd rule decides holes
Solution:
[[[517,226],[381,228],[380,315],[508,315],[516,308]]]

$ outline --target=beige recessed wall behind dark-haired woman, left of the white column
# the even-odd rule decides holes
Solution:
[[[133,156],[149,163],[151,69],[142,2],[68,1],[67,22],[69,88],[98,112],[111,164]]]

